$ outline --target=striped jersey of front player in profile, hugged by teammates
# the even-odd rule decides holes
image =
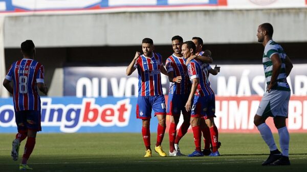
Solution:
[[[200,81],[194,95],[207,96],[214,94],[213,90],[210,87],[207,70],[207,65],[197,59],[191,60],[188,64],[188,73],[190,80],[192,81],[195,78],[199,78]]]

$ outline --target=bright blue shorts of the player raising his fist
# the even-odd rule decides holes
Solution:
[[[156,115],[166,115],[164,95],[139,96],[137,103],[137,118],[150,119],[151,109]]]

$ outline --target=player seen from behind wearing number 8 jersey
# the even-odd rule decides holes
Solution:
[[[18,159],[20,142],[27,138],[25,152],[20,170],[32,169],[27,165],[28,159],[34,149],[36,133],[41,131],[40,126],[40,96],[37,88],[47,95],[45,86],[44,67],[34,60],[35,46],[32,40],[21,43],[23,59],[14,62],[3,81],[4,87],[13,94],[15,118],[18,133],[12,143],[11,156],[14,161]],[[10,84],[13,81],[13,86]]]

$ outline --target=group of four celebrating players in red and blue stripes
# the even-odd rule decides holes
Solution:
[[[162,157],[166,156],[161,143],[164,137],[166,115],[170,115],[169,125],[169,156],[183,156],[179,141],[187,133],[191,125],[195,151],[188,157],[220,156],[218,148],[218,131],[214,124],[215,96],[210,87],[209,73],[217,75],[220,67],[211,68],[211,52],[202,51],[203,40],[193,37],[191,41],[183,42],[181,36],[171,39],[173,54],[163,66],[160,54],[153,52],[153,41],[144,38],[143,54],[137,52],[129,64],[126,74],[129,76],[138,69],[139,96],[137,103],[137,118],[142,119],[142,135],[146,147],[145,157],[151,157],[150,148],[150,118],[151,109],[155,111],[159,124],[155,151]],[[168,76],[170,86],[167,107],[161,86],[161,73]],[[181,113],[183,124],[177,134],[177,125]],[[202,133],[204,149],[201,149]],[[210,148],[211,145],[211,148]]]

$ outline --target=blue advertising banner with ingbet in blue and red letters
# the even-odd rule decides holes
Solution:
[[[41,97],[43,133],[140,132],[142,120],[136,118],[137,99]],[[158,120],[151,120],[152,131]],[[16,132],[12,98],[0,99],[0,133]]]

